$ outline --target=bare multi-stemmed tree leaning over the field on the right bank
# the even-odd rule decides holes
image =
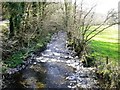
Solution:
[[[75,32],[74,39],[73,39],[73,47],[75,48],[77,55],[80,56],[80,58],[84,58],[85,55],[87,55],[87,45],[89,44],[89,41],[93,39],[96,35],[104,31],[105,29],[118,24],[118,15],[117,12],[114,10],[111,10],[106,15],[106,18],[101,22],[99,25],[97,25],[95,28],[92,28],[94,26],[94,8],[96,5],[92,6],[89,10],[84,10],[83,8],[83,0],[79,5],[80,9],[77,9],[78,6],[76,5],[76,0],[74,3],[75,11],[74,10],[74,26],[75,26]],[[114,18],[114,21],[112,23],[108,23],[111,18]],[[106,24],[106,25],[105,25]]]

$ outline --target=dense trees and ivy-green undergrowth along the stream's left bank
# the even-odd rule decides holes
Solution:
[[[57,16],[58,5],[49,2],[2,3],[3,20],[8,20],[7,26],[2,25],[2,60],[7,67],[16,67],[30,53],[46,46],[51,35],[57,31],[52,29],[52,23],[59,21],[53,20],[52,15]],[[57,26],[58,23],[54,24],[54,28]]]

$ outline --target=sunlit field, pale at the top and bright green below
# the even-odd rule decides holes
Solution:
[[[95,27],[93,27],[95,28]],[[118,60],[118,28],[110,27],[92,39],[91,47],[94,53],[108,56],[112,61]]]

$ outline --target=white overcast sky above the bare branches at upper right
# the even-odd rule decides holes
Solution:
[[[78,3],[80,1],[81,0],[77,0]],[[84,0],[87,6],[93,6],[97,4],[95,11],[97,13],[103,13],[103,14],[106,14],[110,9],[113,9],[113,8],[117,10],[119,1],[120,0]]]

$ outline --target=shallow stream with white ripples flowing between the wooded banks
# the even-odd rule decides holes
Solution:
[[[67,34],[54,34],[47,49],[32,64],[3,80],[4,88],[96,88],[94,68],[83,67],[66,46]]]

